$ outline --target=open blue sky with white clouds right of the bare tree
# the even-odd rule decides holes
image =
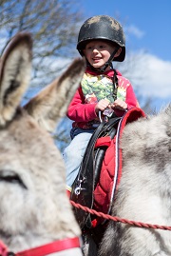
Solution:
[[[171,0],[81,0],[81,5],[85,19],[104,14],[123,25],[126,52],[137,61],[133,72],[143,74],[143,81],[131,82],[142,89],[144,97],[153,97],[154,108],[170,102]]]

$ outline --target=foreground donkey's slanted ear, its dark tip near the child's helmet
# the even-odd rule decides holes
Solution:
[[[25,108],[42,128],[52,132],[66,109],[82,80],[85,60],[75,59],[66,71],[46,89],[32,98]]]

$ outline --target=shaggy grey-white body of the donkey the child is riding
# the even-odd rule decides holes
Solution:
[[[123,130],[123,176],[112,215],[166,230],[110,221],[100,256],[171,255],[171,105]]]

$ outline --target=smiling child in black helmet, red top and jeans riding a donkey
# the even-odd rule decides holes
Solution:
[[[126,109],[139,107],[130,82],[113,69],[112,61],[123,62],[125,41],[123,28],[113,18],[98,15],[81,27],[77,49],[86,59],[86,70],[67,116],[73,120],[71,143],[64,151],[66,189],[77,177],[85,148],[101,119],[123,116]]]

